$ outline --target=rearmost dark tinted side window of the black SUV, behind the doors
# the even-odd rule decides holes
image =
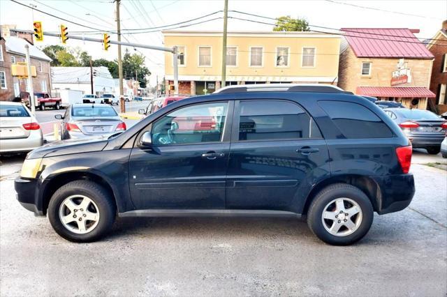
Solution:
[[[337,128],[346,138],[393,137],[386,123],[366,107],[352,102],[319,101]]]

